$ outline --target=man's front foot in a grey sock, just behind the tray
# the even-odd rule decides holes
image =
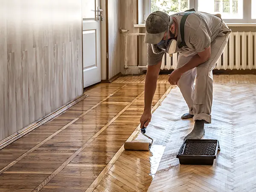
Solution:
[[[184,140],[186,139],[196,139],[200,140],[204,136],[205,130],[204,130],[204,120],[196,120],[193,130],[184,137]]]

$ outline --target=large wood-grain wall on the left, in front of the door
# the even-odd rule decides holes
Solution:
[[[0,140],[82,94],[81,0],[1,0]]]

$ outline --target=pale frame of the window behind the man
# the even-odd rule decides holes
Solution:
[[[150,14],[151,0],[143,0],[143,23]],[[189,9],[198,10],[198,0],[189,0]],[[251,18],[251,0],[243,0],[243,19],[223,19],[225,23],[256,23],[256,19]]]

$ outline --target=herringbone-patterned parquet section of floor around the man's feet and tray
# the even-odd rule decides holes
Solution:
[[[143,83],[143,78],[135,79]],[[154,139],[151,151],[120,149],[87,191],[256,191],[255,80],[253,75],[215,76],[212,123],[205,125],[204,136],[220,142],[213,166],[179,164],[177,151],[194,122],[180,119],[187,106],[180,90],[173,87],[147,128]],[[158,82],[162,81],[160,76]],[[147,140],[138,130],[134,139]]]

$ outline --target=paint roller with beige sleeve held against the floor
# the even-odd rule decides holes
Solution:
[[[125,150],[133,150],[133,151],[149,151],[152,144],[153,144],[153,139],[146,135],[146,128],[140,129],[141,133],[145,136],[148,137],[148,139],[151,140],[151,142],[140,142],[140,141],[126,141],[124,144]]]

